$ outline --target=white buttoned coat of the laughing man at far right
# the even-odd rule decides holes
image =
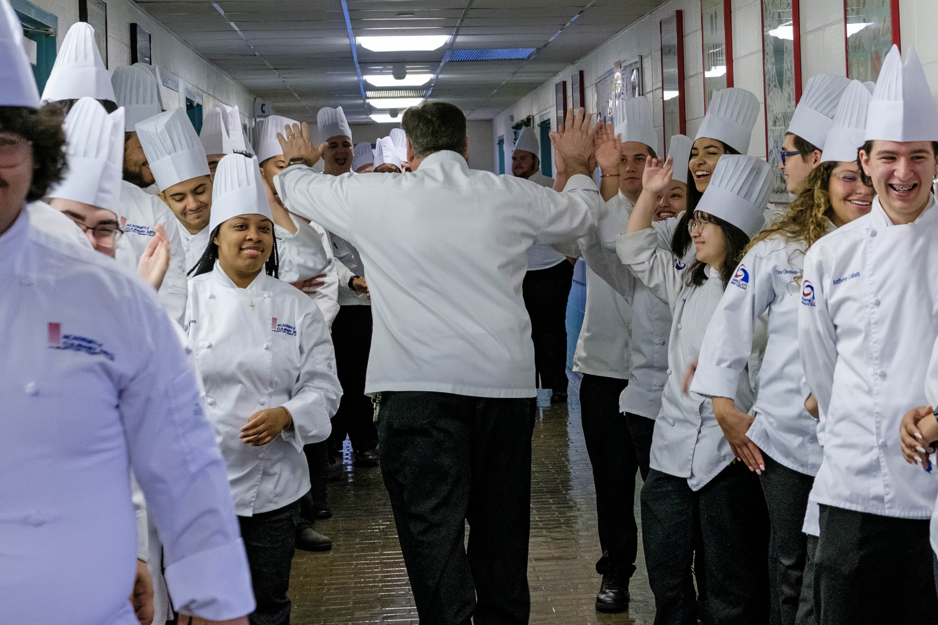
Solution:
[[[905,413],[927,403],[938,335],[938,210],[893,225],[879,198],[805,257],[798,339],[818,400],[824,460],[810,499],[856,512],[930,518],[938,479],[900,451]]]

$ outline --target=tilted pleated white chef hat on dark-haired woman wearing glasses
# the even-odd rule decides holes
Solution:
[[[765,202],[772,179],[772,167],[763,158],[720,156],[696,210],[729,221],[751,237],[765,225]]]

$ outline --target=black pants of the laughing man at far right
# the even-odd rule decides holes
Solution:
[[[938,623],[928,519],[821,505],[814,609],[821,625]]]

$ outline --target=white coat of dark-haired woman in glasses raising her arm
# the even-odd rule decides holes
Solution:
[[[723,294],[719,272],[708,267],[703,286],[688,287],[686,271],[675,267],[683,263],[658,246],[658,234],[652,228],[619,235],[616,249],[633,274],[668,300],[673,316],[668,382],[652,437],[651,468],[688,478],[691,490],[700,490],[734,459],[713,414],[713,403],[700,394],[685,394],[681,388],[684,373],[700,353],[707,323]],[[748,371],[739,376],[738,386],[736,407],[745,412],[752,405]]]

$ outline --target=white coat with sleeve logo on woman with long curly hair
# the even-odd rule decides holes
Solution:
[[[807,475],[821,467],[817,421],[805,409],[810,391],[802,383],[798,309],[804,241],[780,234],[760,241],[743,258],[703,337],[690,390],[706,397],[735,397],[739,374],[749,362],[752,333],[768,312],[768,343],[759,372],[755,421],[747,436],[779,464]]]

